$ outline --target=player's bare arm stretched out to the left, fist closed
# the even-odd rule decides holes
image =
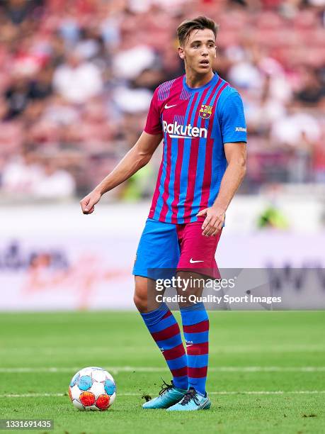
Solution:
[[[93,213],[95,205],[100,201],[103,194],[122,184],[122,182],[132,177],[132,174],[147,165],[161,139],[161,133],[149,134],[144,131],[137,143],[120,160],[113,171],[80,201],[82,212],[84,214]]]

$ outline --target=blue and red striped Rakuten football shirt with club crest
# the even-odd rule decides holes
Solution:
[[[217,197],[227,168],[224,143],[247,141],[241,96],[218,74],[198,88],[183,75],[157,87],[144,131],[164,137],[149,218],[196,221]]]

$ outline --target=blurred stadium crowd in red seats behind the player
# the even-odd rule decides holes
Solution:
[[[200,14],[219,23],[215,70],[244,99],[241,191],[325,182],[325,0],[6,0],[1,195],[94,187],[139,137],[156,86],[183,74],[176,28]],[[115,194],[146,196],[152,177],[144,170]]]

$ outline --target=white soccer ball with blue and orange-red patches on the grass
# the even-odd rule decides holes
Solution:
[[[99,367],[86,367],[72,377],[69,397],[78,410],[107,410],[114,402],[113,377]]]

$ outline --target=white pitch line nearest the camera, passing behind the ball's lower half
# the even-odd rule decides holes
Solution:
[[[154,395],[154,393],[151,393]],[[295,395],[312,395],[312,394],[325,394],[325,390],[258,390],[258,391],[210,391],[209,395],[285,395],[285,394],[295,394]],[[67,394],[2,394],[0,398],[43,398],[43,397],[56,397],[56,396],[67,396]],[[118,394],[118,396],[141,396],[141,392],[135,393],[125,393]]]

